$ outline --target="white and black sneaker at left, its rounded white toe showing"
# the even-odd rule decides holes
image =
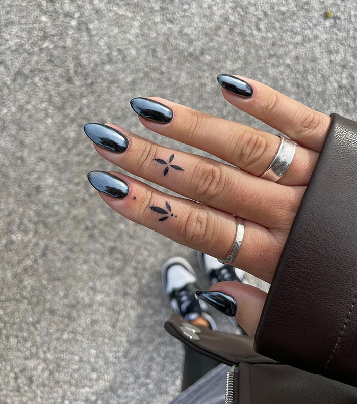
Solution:
[[[213,330],[217,330],[215,321],[208,314],[208,306],[195,296],[199,288],[198,279],[186,259],[174,257],[166,261],[162,269],[162,284],[176,314],[182,315],[187,321],[202,316]]]

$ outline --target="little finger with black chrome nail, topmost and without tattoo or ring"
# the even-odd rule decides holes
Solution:
[[[331,118],[281,94],[259,81],[242,76],[220,75],[223,97],[249,115],[294,139],[299,145],[319,152],[328,132]],[[236,88],[252,89],[244,98]],[[292,168],[292,167],[291,167]],[[289,168],[290,169],[290,168]]]

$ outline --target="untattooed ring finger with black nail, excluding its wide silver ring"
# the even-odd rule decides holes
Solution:
[[[135,98],[131,104],[147,128],[205,150],[254,176],[263,174],[279,148],[278,136],[162,98]],[[163,111],[165,120],[161,117]],[[171,119],[167,120],[167,117]],[[317,156],[312,150],[297,147],[293,163],[279,182],[307,184]]]

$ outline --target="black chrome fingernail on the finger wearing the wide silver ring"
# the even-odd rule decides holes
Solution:
[[[130,101],[130,105],[139,117],[150,121],[167,124],[173,118],[173,110],[158,101],[137,97]]]

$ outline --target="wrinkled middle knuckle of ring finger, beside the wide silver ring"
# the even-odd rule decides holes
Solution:
[[[239,167],[247,168],[254,165],[262,157],[268,146],[268,140],[260,133],[251,130],[245,131],[242,135],[237,155],[239,156]]]

